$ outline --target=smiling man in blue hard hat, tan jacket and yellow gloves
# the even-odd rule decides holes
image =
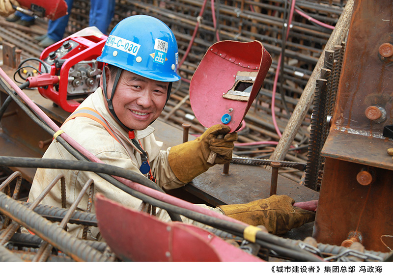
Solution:
[[[180,80],[177,42],[163,22],[145,15],[122,20],[113,28],[97,60],[105,64],[100,87],[61,126],[90,153],[106,164],[146,175],[167,190],[186,185],[213,166],[207,163],[211,151],[217,153],[216,164],[231,160],[237,134],[229,133],[229,127],[224,125],[215,125],[196,140],[166,150],[161,150],[162,143],[154,138],[150,124],[168,102],[172,83]],[[217,138],[220,134],[225,135],[224,138]],[[43,158],[75,160],[56,139]],[[125,206],[140,208],[140,199],[93,172],[59,169],[37,169],[29,201],[59,173],[65,177],[67,207],[84,184],[93,179],[96,192]],[[60,185],[56,185],[42,204],[60,207],[60,190]],[[266,224],[271,232],[282,233],[314,219],[313,212],[293,207],[293,202],[290,197],[281,195],[211,209],[254,225]],[[87,195],[79,208],[85,210],[86,206]],[[165,210],[158,210],[157,217],[169,220]]]

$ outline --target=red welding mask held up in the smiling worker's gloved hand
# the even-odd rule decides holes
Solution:
[[[258,94],[272,64],[259,41],[220,41],[199,63],[190,83],[190,102],[204,127],[225,124],[231,132]]]

